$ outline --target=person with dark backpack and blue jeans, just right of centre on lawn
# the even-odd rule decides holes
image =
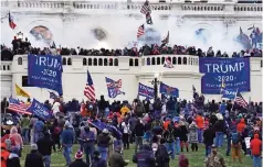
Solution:
[[[173,138],[173,130],[171,124],[168,125],[168,129],[162,134],[165,142],[166,142],[166,148],[168,153],[171,155],[171,158],[175,159],[176,152],[175,152],[175,138]]]

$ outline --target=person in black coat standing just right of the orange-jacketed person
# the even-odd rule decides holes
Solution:
[[[213,140],[215,134],[212,130],[212,124],[209,124],[209,127],[203,132],[203,143],[206,146],[206,157],[211,154],[211,146],[213,145]]]

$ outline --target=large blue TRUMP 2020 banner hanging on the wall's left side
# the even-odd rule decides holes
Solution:
[[[63,94],[62,57],[52,55],[28,56],[28,84],[32,87],[48,88]]]

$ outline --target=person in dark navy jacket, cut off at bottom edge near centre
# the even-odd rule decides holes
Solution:
[[[141,149],[133,157],[133,162],[137,167],[152,167],[155,166],[155,155],[149,145],[143,145]]]

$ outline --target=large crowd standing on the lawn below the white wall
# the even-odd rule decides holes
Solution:
[[[206,147],[206,167],[227,166],[218,152],[223,145],[233,163],[242,164],[244,154],[251,156],[253,167],[261,167],[262,102],[242,108],[231,101],[204,103],[198,99],[187,102],[170,97],[154,103],[138,99],[132,103],[109,103],[102,96],[96,101],[64,103],[57,98],[53,104],[44,103],[53,112],[50,120],[1,110],[18,120],[17,124],[3,126],[8,124],[3,119],[1,166],[20,167],[24,144],[30,144],[25,167],[50,167],[52,149],[62,151],[69,167],[124,167],[129,162],[124,159],[123,149],[135,144],[133,163],[138,167],[169,167],[176,155],[178,166],[188,167],[189,159],[183,153],[200,152],[200,145]],[[1,105],[8,105],[6,100]],[[30,102],[29,99],[25,104]],[[74,144],[80,149],[72,160]]]

